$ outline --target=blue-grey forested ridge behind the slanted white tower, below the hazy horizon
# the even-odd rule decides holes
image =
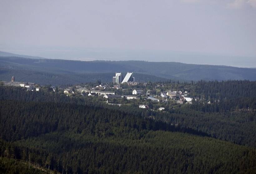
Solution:
[[[194,65],[177,62],[145,61],[71,61],[58,59],[28,59],[22,57],[0,57],[1,78],[9,79],[12,72],[29,77],[30,73],[44,73],[44,78],[55,79],[56,74],[112,73],[127,71],[172,80],[256,80],[256,69],[231,66]],[[7,77],[8,75],[8,77]],[[135,78],[136,80],[139,80]],[[143,80],[143,78],[141,79]],[[159,79],[159,81],[164,79]],[[79,80],[77,80],[79,81]]]

